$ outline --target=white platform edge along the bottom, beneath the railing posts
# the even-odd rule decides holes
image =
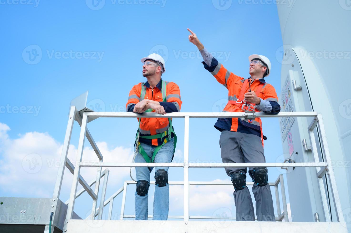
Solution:
[[[113,229],[113,231],[111,230]],[[228,233],[228,232],[347,232],[340,222],[237,222],[237,221],[140,221],[140,220],[68,220],[67,232],[168,232],[168,233]]]

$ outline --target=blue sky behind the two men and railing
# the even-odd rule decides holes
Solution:
[[[249,55],[267,56],[272,69],[266,81],[276,88],[279,97],[282,36],[277,6],[268,2],[103,0],[95,1],[100,5],[94,7],[92,0],[1,1],[0,165],[7,169],[1,173],[0,196],[51,197],[57,168],[48,166],[52,164],[48,161],[60,158],[71,99],[89,90],[88,105],[94,106],[94,110],[125,111],[130,89],[145,81],[140,59],[154,51],[166,60],[163,79],[180,87],[181,111],[221,111],[227,100],[227,89],[203,68],[196,46],[188,42],[187,28],[236,75],[249,77]],[[220,132],[213,127],[215,122],[215,118],[190,120],[190,160],[221,162]],[[88,128],[108,154],[109,161],[129,162],[137,125],[134,118],[104,118],[89,123]],[[184,119],[174,119],[173,125],[178,135],[176,158],[181,161]],[[69,154],[72,158],[75,158],[79,137],[78,124],[74,127]],[[276,162],[283,153],[278,119],[263,119],[263,131],[268,138],[266,161]],[[91,148],[88,144],[85,146],[88,155]],[[42,169],[28,174],[21,163],[32,153],[39,155]],[[5,172],[9,171],[8,164],[24,172],[25,179],[17,177],[18,180],[13,181],[27,187],[28,192],[23,193],[11,184],[14,178]],[[117,170],[111,169],[110,177],[113,171]],[[118,171],[120,176],[108,186],[107,196],[119,189],[125,179],[130,180],[126,170]],[[269,181],[275,181],[282,172],[269,169]],[[67,169],[65,174],[68,179],[72,178]],[[86,174],[94,177],[91,172]],[[169,177],[183,180],[183,169],[170,169]],[[224,169],[190,169],[190,180],[216,179],[230,180]],[[35,188],[33,182],[38,183]],[[67,187],[70,184],[68,180]],[[68,189],[62,191],[63,201],[68,198]],[[135,186],[130,185],[126,214],[134,214],[134,189]],[[223,193],[213,194],[213,198],[221,194],[228,200],[231,198],[228,206],[219,203],[204,209],[198,205],[191,210],[191,215],[211,215],[221,207],[233,211],[232,191],[232,187],[228,187]],[[201,192],[205,195],[202,187],[194,188],[193,192],[194,196]],[[153,189],[149,193],[153,194]],[[84,215],[86,207],[79,205],[85,201],[90,203],[89,198],[79,197],[75,211]],[[150,195],[149,214],[152,198]],[[181,194],[179,201],[182,200]],[[117,203],[114,210],[118,214],[120,204]],[[172,210],[176,205],[171,201],[170,214],[182,215],[182,209]]]

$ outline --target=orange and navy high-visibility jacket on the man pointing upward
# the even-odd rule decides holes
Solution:
[[[228,93],[228,103],[223,109],[223,112],[243,112],[245,108],[245,104],[243,107],[243,103],[240,104],[239,94],[241,88],[243,88],[243,83],[245,79],[243,77],[239,77],[232,72],[228,71],[224,66],[217,61],[213,57],[211,62],[211,67],[207,66],[205,62],[203,62],[205,69],[211,72],[211,74],[217,79],[217,81],[224,85],[229,90]],[[261,84],[262,83],[262,84]],[[269,83],[266,83],[264,78],[256,79],[251,83],[251,91],[255,91],[259,88],[259,85],[262,85],[262,89],[257,94],[257,97],[269,101],[272,105],[271,112],[277,114],[280,111],[280,105],[278,104],[278,97],[276,90]],[[245,93],[249,91],[249,85],[245,88]],[[239,102],[239,103],[237,103]],[[250,106],[251,110],[256,107],[254,104]],[[258,108],[255,111],[259,111]],[[214,125],[219,131],[230,130],[237,132],[244,132],[255,134],[261,137],[259,118],[255,118],[254,120],[243,118],[218,118],[217,123]]]

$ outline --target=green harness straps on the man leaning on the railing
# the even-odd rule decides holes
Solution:
[[[166,82],[163,80],[161,82],[161,89],[162,89],[161,92],[162,92],[163,102],[166,102]],[[146,94],[146,87],[144,86],[144,83],[141,83],[141,93],[140,93],[141,100],[144,100],[145,94]],[[152,112],[152,109],[147,109],[145,112]],[[173,130],[171,118],[168,118],[168,122],[170,126],[168,127],[167,131],[163,133],[158,133],[156,135],[150,135],[150,136],[139,136],[140,122],[141,122],[141,117],[139,117],[139,128],[138,128],[137,136],[135,137],[135,142],[137,143],[137,150],[139,148],[139,153],[144,157],[147,163],[154,162],[157,152],[162,148],[164,144],[166,144],[168,141],[171,140],[172,133],[174,135],[174,151],[173,151],[173,155],[174,155],[174,152],[176,151],[176,145],[177,145],[177,135]],[[167,135],[168,135],[168,138],[165,138],[163,143],[155,148],[152,154],[152,158],[150,159],[149,156],[146,154],[145,150],[143,149],[143,147],[141,146],[139,142],[139,137],[145,138],[145,139],[158,139],[158,138],[163,138]]]

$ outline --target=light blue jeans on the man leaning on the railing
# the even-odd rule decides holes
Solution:
[[[157,152],[155,156],[155,163],[171,163],[174,152],[174,139],[172,138]],[[156,146],[140,143],[144,151],[151,159],[152,153]],[[134,146],[135,150],[135,146]],[[146,163],[144,157],[138,152],[135,156],[135,163]],[[155,171],[164,169],[168,173],[169,167],[155,167]],[[150,183],[150,172],[153,167],[135,167],[135,173],[138,180],[146,180]],[[147,220],[147,199],[148,193],[145,196],[139,196],[135,191],[135,220]],[[155,186],[153,216],[152,220],[167,220],[168,209],[170,206],[170,185],[159,187]]]

